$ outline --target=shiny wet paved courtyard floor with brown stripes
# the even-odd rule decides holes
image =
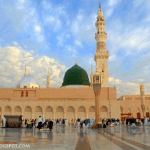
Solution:
[[[46,128],[0,128],[0,149],[39,150],[150,150],[150,127],[131,129],[125,125],[106,129],[72,126]]]

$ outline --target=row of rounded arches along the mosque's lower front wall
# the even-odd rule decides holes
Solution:
[[[100,113],[108,117],[108,108],[106,106],[102,106],[100,108]],[[23,118],[38,118],[42,116],[45,119],[57,119],[57,118],[67,118],[69,120],[73,118],[95,118],[95,106],[90,106],[85,108],[84,106],[79,106],[75,108],[73,106],[67,107],[64,109],[63,106],[58,106],[56,108],[52,108],[51,106],[47,106],[46,108],[42,108],[41,106],[31,107],[25,106],[24,108],[20,106],[15,106],[11,108],[11,106],[5,106],[4,111],[0,108],[0,115],[23,115]]]

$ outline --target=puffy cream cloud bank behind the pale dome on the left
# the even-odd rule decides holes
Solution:
[[[27,73],[31,71],[41,87],[46,87],[47,69],[50,68],[51,86],[60,87],[66,67],[53,58],[33,54],[20,46],[0,47],[0,86],[16,87],[27,66]]]

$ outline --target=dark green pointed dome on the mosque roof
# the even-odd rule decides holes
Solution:
[[[65,85],[90,85],[86,71],[77,64],[75,64],[65,73],[62,86]]]

